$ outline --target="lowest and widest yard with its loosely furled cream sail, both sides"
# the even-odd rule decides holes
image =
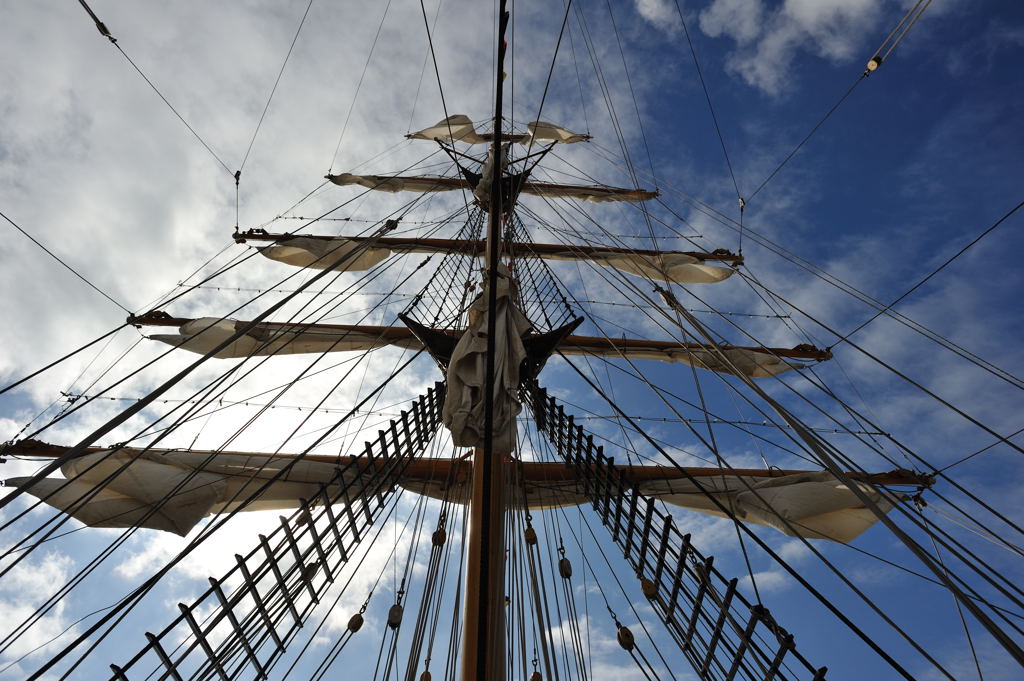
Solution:
[[[52,458],[68,450],[36,440],[13,446],[17,454],[32,457]],[[351,472],[338,479],[339,468],[349,462],[362,463],[346,468]],[[296,461],[288,455],[246,452],[96,448],[61,466],[63,478],[44,478],[29,492],[94,527],[139,525],[186,535],[202,518],[217,513],[297,508],[302,500],[316,499],[323,484],[358,484],[360,473],[370,471],[373,465],[360,457],[308,455]],[[523,497],[517,504],[524,502],[530,509],[542,509],[588,502],[577,471],[565,464],[527,461],[518,466]],[[288,471],[281,473],[286,467]],[[725,516],[702,488],[739,520],[791,536],[846,543],[878,520],[852,492],[825,471],[615,468],[641,494],[699,513]],[[928,482],[926,477],[905,470],[848,475],[887,512],[898,496],[882,494],[877,485]],[[471,476],[472,463],[465,459],[423,459],[411,462],[397,483],[429,497],[447,499],[445,487],[452,480]],[[29,479],[9,478],[7,484],[17,485]],[[244,500],[256,495],[270,479],[273,481],[265,490],[243,506]],[[90,494],[93,491],[95,494]],[[353,494],[359,494],[358,487]]]

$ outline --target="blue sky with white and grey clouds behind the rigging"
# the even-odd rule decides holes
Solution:
[[[435,123],[445,111],[466,114],[478,122],[493,114],[494,8],[487,3],[426,3],[438,76],[418,3],[311,3],[265,116],[268,95],[306,2],[95,0],[90,4],[124,54],[97,33],[78,3],[3,5],[0,210],[113,301],[4,221],[0,225],[5,230],[0,242],[0,281],[5,292],[0,298],[3,385],[117,328],[126,316],[122,306],[132,312],[145,311],[155,301],[184,291],[182,284],[195,284],[203,274],[251,256],[252,249],[231,241],[236,223],[242,228],[262,225],[272,231],[294,230],[306,220],[293,218],[336,209],[332,218],[349,219],[325,221],[306,230],[351,235],[369,228],[395,211],[403,198],[355,199],[359,193],[352,187],[323,186],[325,173],[394,173],[414,165],[424,172],[449,171],[451,164],[444,165],[446,158],[431,143],[409,142],[402,135]],[[866,440],[908,467],[933,470],[989,448],[997,435],[1010,435],[1024,425],[1021,381],[1014,378],[1024,372],[1019,341],[1024,333],[1019,294],[1024,290],[1024,269],[1019,264],[1024,218],[1011,216],[898,305],[904,322],[908,318],[920,325],[918,331],[882,317],[858,331],[852,343],[839,343],[839,339],[873,314],[851,291],[883,303],[895,300],[1024,199],[1024,126],[1020,123],[1024,120],[1024,10],[1017,3],[936,0],[882,68],[861,80],[800,152],[765,182],[857,82],[908,4],[893,0],[680,2],[728,150],[730,173],[676,4],[663,0],[614,3],[614,14],[609,15],[602,3],[574,3],[541,118],[589,133],[594,140],[557,150],[538,177],[559,181],[592,177],[632,186],[635,179],[626,171],[632,164],[636,181],[658,188],[664,198],[649,213],[659,248],[742,248],[746,258],[741,273],[724,284],[677,288],[684,305],[729,312],[721,317],[700,312],[699,318],[723,337],[746,339],[746,343],[754,338],[774,346],[835,345],[835,359],[808,378],[820,380],[838,399],[800,377],[784,383],[766,382],[766,389],[815,427],[857,431],[857,435],[837,433],[828,439],[858,465],[892,467],[863,443]],[[506,69],[505,115],[517,130],[538,118],[563,11],[564,6],[557,3],[518,3],[516,7]],[[237,213],[232,174],[240,168]],[[742,237],[732,222],[739,218],[737,191],[748,199]],[[304,201],[296,206],[300,200]],[[411,213],[404,226],[414,233],[418,224],[436,221],[462,205],[461,197],[440,197]],[[634,209],[588,207],[587,214],[594,219],[588,223],[562,205],[530,207],[543,221],[524,218],[538,240],[579,238],[600,243],[610,233],[624,244],[650,247],[644,239],[650,233],[648,222]],[[550,228],[548,223],[559,215],[570,219],[571,237]],[[443,233],[454,233],[452,229]],[[680,235],[691,239],[680,239]],[[330,298],[331,306],[315,317],[335,323],[364,318],[372,324],[394,323],[394,314],[409,302],[408,297],[394,296],[382,307],[380,295],[364,294],[386,292],[409,276],[412,281],[402,295],[415,293],[429,270],[414,271],[418,259],[392,260],[380,276],[356,287],[358,295]],[[635,280],[639,282],[636,289],[624,290],[622,281],[603,268],[595,271],[571,263],[553,266],[555,275],[580,301],[600,301],[577,303],[588,317],[589,333],[678,334],[678,330],[659,327],[644,311],[651,304],[645,299],[654,299],[648,283]],[[294,290],[308,276],[257,255],[165,309],[180,316],[250,318],[287,295],[281,291]],[[330,290],[342,291],[354,275],[329,281]],[[258,291],[266,289],[273,291],[253,301]],[[294,313],[300,304],[313,299],[324,298],[306,295],[286,311]],[[640,309],[634,309],[638,302]],[[955,344],[959,354],[926,338],[921,328],[944,339],[947,346]],[[148,365],[164,350],[165,346],[143,339],[139,331],[122,330],[109,343],[104,340],[0,395],[0,438],[31,434],[61,410],[77,406],[70,403],[68,395],[95,394]],[[990,364],[980,367],[979,361],[965,358],[967,353]],[[345,363],[344,355],[327,357],[313,371],[332,369],[291,387],[280,397],[282,409],[268,412],[237,437],[232,434],[255,414],[255,408],[243,405],[203,413],[202,418],[178,428],[164,445],[301,451],[337,420],[336,412],[310,414],[310,405],[327,398],[325,403],[332,409],[350,407],[384,380],[403,356],[397,350],[383,350],[371,355],[372,361],[351,358],[339,364]],[[37,437],[77,442],[194,358],[178,354],[160,358],[112,388],[108,399],[74,412]],[[273,360],[252,375],[234,375],[239,380],[226,401],[265,403],[273,393],[264,391],[287,383],[312,361],[308,357]],[[229,361],[207,363],[168,398],[188,399],[234,366]],[[587,366],[617,400],[630,405],[631,415],[652,419],[647,422],[648,432],[667,442],[680,463],[714,461],[679,423],[680,414],[697,416],[686,403],[692,405],[698,396],[688,368],[640,368],[663,390],[659,397],[648,383],[629,375],[628,365],[581,366]],[[545,383],[564,400],[592,415],[610,414],[609,406],[587,391],[562,361],[553,360],[546,371]],[[410,399],[436,378],[430,363],[418,361],[389,386],[377,405],[387,412],[388,406]],[[736,384],[717,377],[701,377],[699,387],[710,411],[723,420],[751,424],[746,431],[726,424],[714,426],[719,452],[732,465],[797,467],[799,462],[786,451],[793,443],[785,434],[763,427],[767,417],[755,408],[763,403],[745,402],[733,390]],[[665,397],[666,390],[675,396]],[[180,403],[155,406],[101,441],[133,437]],[[299,407],[307,411],[291,409]],[[618,460],[637,454],[656,457],[638,438],[627,436],[622,424],[613,420],[586,423]],[[362,427],[376,432],[377,421],[345,424],[317,451],[336,454],[351,443],[358,446],[365,438]],[[919,455],[922,461],[911,461],[912,455],[904,453]],[[0,466],[0,477],[32,470],[30,463],[8,459]],[[1010,521],[1020,522],[1024,516],[1016,500],[1024,482],[1022,473],[1020,452],[996,444],[949,469],[963,490],[940,482],[937,492],[969,511],[978,511],[977,504],[965,496],[973,494]],[[956,540],[970,542],[972,550],[1011,582],[1024,580],[1020,556],[983,536],[987,527],[1019,547],[1021,538],[1015,538],[1006,522],[978,511],[982,525],[978,527],[955,516],[943,499],[926,495],[926,500],[929,506],[922,512],[929,521]],[[25,508],[27,504],[15,502],[0,511],[0,520],[8,522]],[[399,531],[406,515],[415,508],[412,500],[402,499],[386,524],[385,534],[393,537],[387,548],[396,547],[395,555],[409,551],[408,538],[399,537]],[[580,517],[575,513],[564,517],[575,521]],[[0,548],[6,552],[51,515],[34,510],[5,527]],[[766,604],[795,633],[804,654],[830,668],[829,678],[862,678],[867,672],[878,678],[896,678],[891,668],[865,652],[848,630],[827,618],[820,604],[758,551],[751,554],[752,580],[729,523],[683,513],[677,519],[693,534],[705,554],[716,555],[724,573],[743,578],[748,593],[752,582],[757,583]],[[218,535],[218,541],[204,544],[184,561],[139,608],[143,622],[156,623],[145,626],[158,628],[169,621],[177,612],[177,602],[195,598],[206,578],[225,571],[233,554],[251,548],[254,533],[266,531],[276,523],[276,516],[255,515],[232,523]],[[71,522],[61,531],[79,526]],[[594,529],[601,536],[603,529]],[[71,579],[121,535],[120,530],[75,531],[42,545],[8,569],[0,580],[0,609],[5,612],[0,634],[6,635],[14,626],[10,623],[20,622],[43,602],[52,593],[52,585]],[[767,530],[759,530],[759,536],[847,608],[912,675],[941,678],[838,584],[836,576],[803,544]],[[28,635],[0,652],[0,679],[24,678],[38,669],[47,651],[58,649],[59,642],[33,652],[36,646],[67,628],[81,632],[83,625],[76,625],[79,618],[109,605],[159,569],[183,542],[148,530],[128,538],[90,582],[61,599]],[[921,571],[892,536],[876,527],[854,548],[815,547],[871,598],[888,604],[900,626],[951,674],[977,676],[949,595],[872,557]],[[613,557],[614,547],[608,544],[605,549]],[[4,560],[12,560],[12,555]],[[367,574],[374,573],[374,579],[398,563],[386,553],[368,560],[373,569],[368,568]],[[0,562],[4,564],[9,562]],[[606,567],[594,567],[606,574]],[[622,573],[630,577],[628,569]],[[352,588],[357,595],[346,597],[341,614],[329,626],[333,634],[318,639],[314,651],[327,649],[331,636],[366,597],[371,578],[360,580]],[[590,586],[594,591],[593,582]],[[633,596],[615,595],[616,607],[626,608],[627,601],[633,600],[637,590],[635,585],[629,588]],[[992,597],[991,590],[983,594]],[[593,599],[588,600],[591,608],[596,608],[590,610],[595,675],[599,668],[605,673],[638,675],[628,657],[616,654],[609,634],[613,630],[598,619],[597,612],[604,612],[600,596],[596,592],[586,596]],[[386,610],[387,603],[381,605]],[[382,612],[380,607],[370,610],[371,623],[377,627],[368,626],[367,631],[380,631]],[[620,615],[625,619],[624,612]],[[1021,614],[1017,609],[1008,616],[1017,622]],[[648,624],[654,618],[640,605],[633,616]],[[1015,678],[1017,668],[992,639],[976,625],[971,633],[985,678]],[[668,655],[668,640],[654,636]],[[90,678],[86,670],[102,673],[108,663],[127,659],[143,642],[138,629],[116,634],[77,672],[79,678]],[[677,678],[686,678],[679,674]]]

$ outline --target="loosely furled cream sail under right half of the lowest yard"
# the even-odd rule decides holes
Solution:
[[[878,521],[874,513],[827,471],[767,478],[715,475],[701,477],[699,482],[740,520],[774,527],[791,537],[847,543]],[[883,511],[893,507],[873,486],[857,485]],[[645,481],[639,490],[676,506],[725,517],[688,479]]]

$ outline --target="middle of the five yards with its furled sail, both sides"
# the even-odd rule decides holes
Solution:
[[[239,235],[239,241],[275,241],[272,246],[260,248],[264,256],[298,267],[325,269],[341,258],[348,257],[342,267],[349,271],[370,269],[392,253],[463,253],[483,255],[482,241],[457,239],[417,239],[359,237],[299,237],[290,235]],[[356,251],[364,244],[365,248]],[[563,246],[559,244],[516,244],[515,258],[542,258],[545,260],[591,261],[605,267],[645,276],[659,282],[676,284],[715,284],[733,274],[731,267],[708,264],[722,260],[738,262],[740,258],[730,253],[657,252],[640,249],[614,249],[593,246]],[[350,253],[356,252],[349,257]]]

